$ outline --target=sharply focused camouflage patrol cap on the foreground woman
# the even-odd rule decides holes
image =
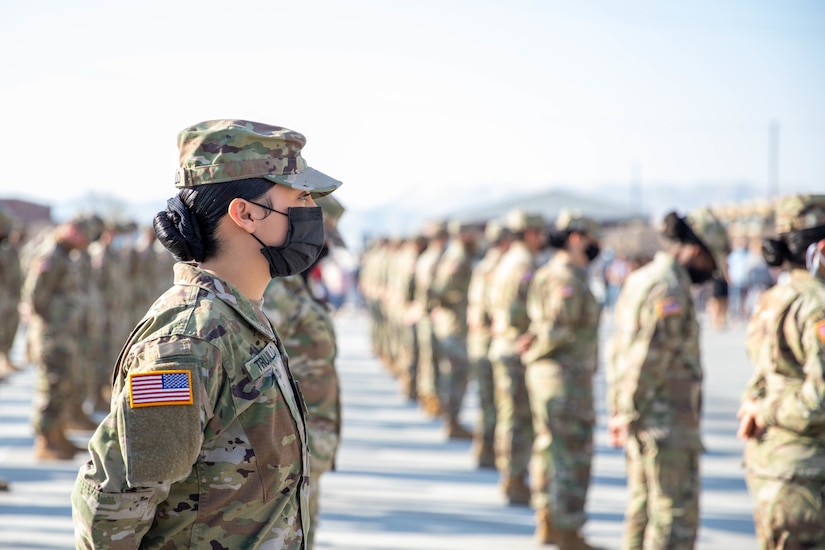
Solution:
[[[178,133],[175,187],[264,178],[313,197],[341,182],[310,168],[301,156],[306,138],[288,128],[248,120],[209,120]]]

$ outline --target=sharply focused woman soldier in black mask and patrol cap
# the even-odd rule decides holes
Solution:
[[[304,405],[261,310],[324,244],[292,130],[213,120],[178,134],[180,191],[154,219],[175,284],[132,331],[112,411],[72,492],[78,548],[306,547]]]

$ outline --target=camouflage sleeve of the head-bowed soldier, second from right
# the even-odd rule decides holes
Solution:
[[[621,358],[621,374],[615,395],[616,413],[628,424],[646,415],[684,335],[684,297],[656,286],[643,297],[637,331]]]

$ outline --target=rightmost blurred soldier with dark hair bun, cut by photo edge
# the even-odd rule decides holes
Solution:
[[[790,274],[762,294],[748,323],[756,372],[739,409],[738,435],[747,440],[745,477],[759,548],[822,548],[825,195],[780,199],[776,232],[778,239],[765,241],[765,259]]]

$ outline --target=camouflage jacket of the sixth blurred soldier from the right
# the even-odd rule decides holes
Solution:
[[[437,308],[433,315],[440,338],[467,334],[467,288],[473,271],[473,256],[458,239],[450,242],[435,266],[432,299]]]

